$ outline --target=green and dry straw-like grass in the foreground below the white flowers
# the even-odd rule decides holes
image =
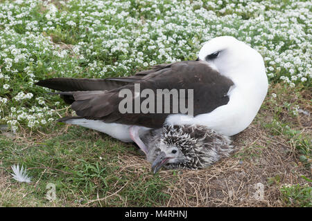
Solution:
[[[270,88],[269,95],[277,95],[276,105],[297,93],[297,89],[285,93],[284,87],[277,84]],[[303,97],[300,106],[309,103]],[[0,204],[311,206],[311,131],[302,125],[306,125],[307,116],[293,117],[287,108],[272,108],[271,99],[266,98],[252,125],[234,136],[234,155],[202,171],[153,175],[136,146],[78,126],[55,123],[53,128],[31,135],[26,134],[29,131],[3,133]],[[268,117],[280,124],[272,124]],[[10,166],[17,163],[27,166],[31,184],[11,179]],[[264,200],[252,198],[257,182],[265,185]],[[55,184],[57,197],[51,202],[46,199],[49,183]]]

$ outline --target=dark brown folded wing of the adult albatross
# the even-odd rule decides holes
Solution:
[[[119,91],[129,89],[135,94],[135,83],[139,83],[140,90],[151,89],[157,94],[157,89],[193,89],[193,114],[209,113],[218,106],[229,102],[227,92],[233,82],[220,75],[201,61],[181,61],[173,64],[155,66],[152,70],[146,70],[132,77],[109,78],[105,81],[121,82],[123,86],[112,90],[92,90],[64,92],[60,95],[73,96],[71,105],[77,115],[86,119],[100,119],[103,122],[116,122],[159,128],[170,113],[120,113],[119,103],[123,97],[119,97]],[[118,84],[119,84],[118,83]],[[133,98],[133,97],[132,97]],[[133,98],[134,99],[134,98]],[[143,101],[145,98],[141,98]],[[187,93],[185,102],[187,104]],[[173,111],[171,101],[170,111]],[[157,104],[155,99],[155,110]]]

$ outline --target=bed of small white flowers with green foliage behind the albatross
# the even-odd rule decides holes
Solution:
[[[196,59],[202,44],[220,35],[258,50],[270,81],[309,87],[311,6],[297,0],[2,1],[0,121],[15,130],[58,117],[51,110],[62,103],[46,102],[46,90],[34,86],[38,79],[132,75]]]

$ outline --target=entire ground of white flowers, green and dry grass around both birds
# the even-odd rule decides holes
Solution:
[[[230,3],[0,1],[0,206],[311,207],[311,3]],[[71,109],[33,85],[195,59],[219,35],[263,55],[270,88],[233,155],[205,170],[153,175],[136,146],[56,123]],[[32,182],[13,180],[13,164]]]

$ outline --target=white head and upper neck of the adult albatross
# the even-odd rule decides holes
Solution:
[[[211,39],[200,49],[198,59],[232,79],[236,86],[253,81],[257,85],[261,84],[263,94],[266,95],[268,79],[263,58],[257,50],[242,41],[230,36]]]

